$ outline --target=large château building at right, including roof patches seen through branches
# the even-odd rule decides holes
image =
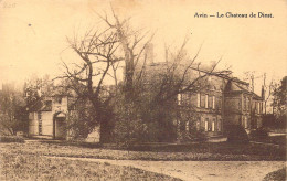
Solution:
[[[164,75],[168,64],[146,65],[146,82],[150,78],[157,82],[156,77]],[[180,75],[181,72],[182,70],[178,68],[177,74]],[[199,73],[206,74],[208,71],[191,67],[187,76],[192,81]],[[209,75],[202,82],[202,88],[177,95],[179,114],[190,115],[188,120],[174,120],[179,139],[191,131],[192,125],[209,136],[222,135],[224,127],[228,125],[241,125],[247,131],[262,126],[263,98],[248,91],[248,83],[227,75]]]

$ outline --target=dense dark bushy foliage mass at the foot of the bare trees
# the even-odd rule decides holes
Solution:
[[[127,100],[123,92],[115,98],[114,136],[117,142],[123,141],[124,145],[130,146],[150,141],[174,141],[177,132],[173,125],[173,105],[152,103],[152,92],[136,88],[134,91],[138,94],[132,97],[132,102]]]

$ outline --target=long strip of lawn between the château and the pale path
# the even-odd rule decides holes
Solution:
[[[255,143],[205,142],[192,145],[149,145],[132,150],[86,148],[66,142],[0,143],[3,153],[102,158],[116,160],[194,160],[194,161],[285,161],[285,147]]]

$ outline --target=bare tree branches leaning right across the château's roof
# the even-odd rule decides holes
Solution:
[[[176,53],[170,53],[169,60],[166,60],[166,70],[160,73],[160,82],[153,85],[157,86],[156,89],[158,91],[155,102],[163,103],[170,98],[174,98],[178,94],[187,92],[196,93],[206,88],[206,78],[209,76],[227,77],[232,73],[227,70],[216,71],[216,66],[222,57],[210,67],[203,68],[200,63],[195,62],[201,47],[190,58],[185,53],[187,43],[188,39],[183,41]],[[169,50],[166,49],[166,52],[169,52]]]

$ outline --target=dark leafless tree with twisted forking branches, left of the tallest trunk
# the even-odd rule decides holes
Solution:
[[[111,95],[107,94],[108,86],[105,79],[111,77],[117,84],[116,72],[119,62],[123,60],[116,56],[119,47],[118,35],[106,29],[104,31],[88,30],[83,38],[74,35],[73,39],[67,38],[70,47],[81,57],[79,63],[66,64],[64,75],[56,78],[66,78],[68,87],[73,89],[78,98],[87,99],[93,106],[94,124],[100,125],[100,134],[105,131],[105,124],[108,121],[108,105]],[[102,135],[103,136],[103,135]],[[100,136],[100,141],[104,140]]]

